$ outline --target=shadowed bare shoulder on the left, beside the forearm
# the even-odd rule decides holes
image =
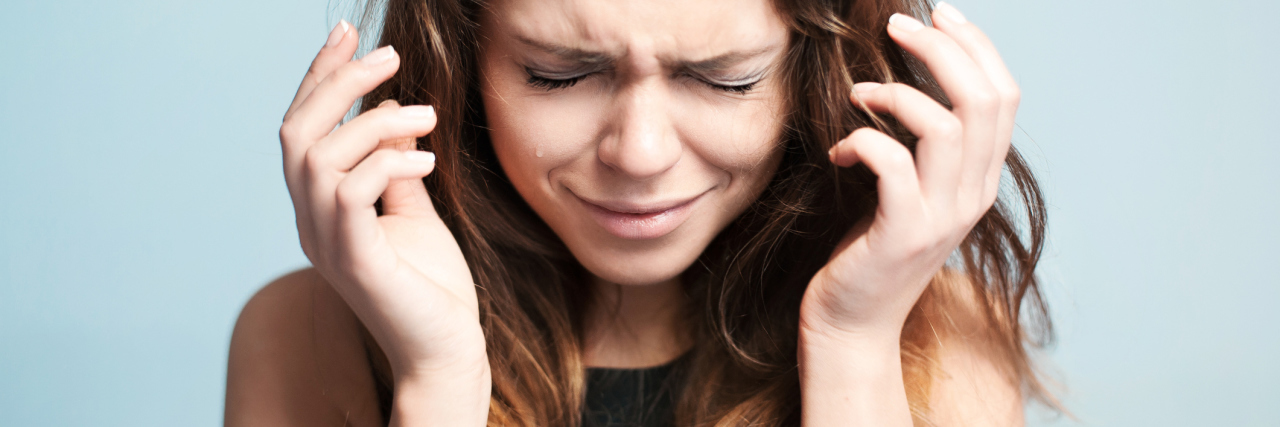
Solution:
[[[227,426],[379,426],[360,321],[314,270],[268,284],[232,334]]]

